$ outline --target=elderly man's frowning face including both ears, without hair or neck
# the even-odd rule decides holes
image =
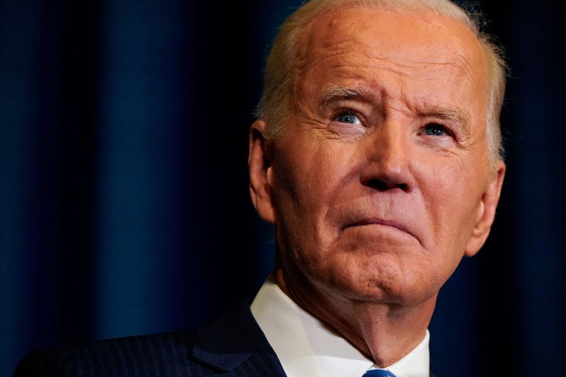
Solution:
[[[470,30],[433,13],[342,6],[308,26],[284,137],[272,153],[253,137],[250,154],[253,201],[277,226],[290,282],[361,301],[434,298],[483,245],[499,198],[488,72]]]

